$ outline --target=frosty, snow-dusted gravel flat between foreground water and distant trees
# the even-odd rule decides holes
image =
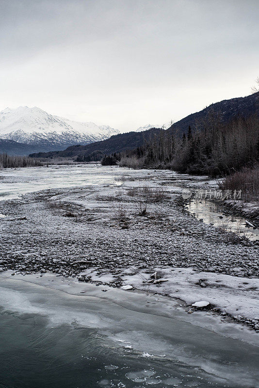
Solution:
[[[52,271],[106,287],[132,285],[188,305],[208,301],[223,320],[227,313],[258,331],[259,247],[232,242],[183,209],[179,197],[190,177],[117,167],[100,167],[98,174],[93,167],[62,168],[61,188],[43,191],[46,177],[34,174],[39,170],[13,170],[12,177],[11,170],[4,171],[3,183],[17,184],[20,176],[25,186],[25,170],[31,172],[40,192],[0,202],[6,216],[0,219],[3,271]],[[88,184],[81,187],[80,175],[71,179],[80,168],[89,168]],[[49,171],[52,179],[55,172]],[[155,272],[157,279],[151,277]]]

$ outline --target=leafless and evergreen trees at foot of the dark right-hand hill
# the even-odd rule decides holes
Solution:
[[[184,133],[161,130],[142,147],[122,155],[120,164],[169,168],[190,174],[218,176],[259,163],[259,115],[224,123],[211,109]]]

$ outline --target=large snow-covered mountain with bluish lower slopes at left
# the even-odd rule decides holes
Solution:
[[[119,133],[109,126],[53,116],[40,108],[20,106],[0,112],[0,138],[29,144],[42,151],[105,140]]]

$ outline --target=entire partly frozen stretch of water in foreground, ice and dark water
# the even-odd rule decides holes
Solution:
[[[256,333],[248,344],[165,297],[32,276],[0,276],[0,387],[259,387]]]

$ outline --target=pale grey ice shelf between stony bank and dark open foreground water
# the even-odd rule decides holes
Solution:
[[[210,323],[208,327],[213,325],[218,334],[200,327],[201,315],[192,317],[193,324],[189,323],[185,311],[168,298],[114,289],[103,293],[99,287],[48,274],[1,275],[0,292],[1,314],[13,311],[22,319],[42,316],[53,330],[64,324],[91,328],[95,338],[100,339],[95,346],[104,352],[105,348],[117,348],[118,355],[122,352],[124,357],[133,359],[148,355],[151,369],[159,360],[171,363],[173,369],[181,363],[191,371],[198,368],[196,376],[210,376],[211,386],[217,383],[218,387],[257,387],[259,348],[229,338],[217,317],[203,314],[202,319]],[[229,324],[230,328],[242,337],[241,329]],[[244,332],[243,339],[251,341],[252,333]],[[133,374],[126,377],[130,376]],[[143,378],[138,374],[133,377]],[[131,380],[137,382],[134,379]],[[159,381],[153,383],[162,387]]]

